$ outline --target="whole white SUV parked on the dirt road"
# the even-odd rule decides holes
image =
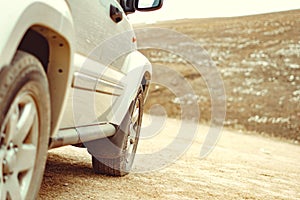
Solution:
[[[162,0],[0,1],[0,199],[35,199],[47,150],[84,146],[127,174],[151,64],[126,14]]]

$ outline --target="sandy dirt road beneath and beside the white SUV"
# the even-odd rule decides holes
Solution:
[[[179,126],[168,119],[159,134],[141,140],[139,153],[164,148]],[[199,125],[188,151],[167,167],[123,178],[95,175],[85,149],[51,150],[39,199],[300,199],[299,145],[225,130],[214,151],[199,159],[207,130]],[[155,167],[153,160],[137,160],[134,170],[143,164]]]

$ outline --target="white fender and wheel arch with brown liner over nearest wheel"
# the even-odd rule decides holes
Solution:
[[[3,10],[8,10],[6,14],[12,14],[12,18],[0,19],[0,25],[6,27],[0,39],[0,70],[9,66],[17,50],[31,53],[41,61],[49,81],[52,135],[58,130],[73,74],[74,28],[71,12],[65,1],[32,0],[19,3],[22,5],[17,8],[13,1],[3,5],[7,7]]]

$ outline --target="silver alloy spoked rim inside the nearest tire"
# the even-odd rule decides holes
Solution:
[[[33,97],[21,91],[0,130],[1,199],[24,199],[28,192],[37,153],[38,119]]]

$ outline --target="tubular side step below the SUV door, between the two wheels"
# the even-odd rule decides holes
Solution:
[[[113,136],[116,128],[112,124],[99,124],[70,129],[61,129],[50,139],[49,149],[71,144],[79,144]]]

